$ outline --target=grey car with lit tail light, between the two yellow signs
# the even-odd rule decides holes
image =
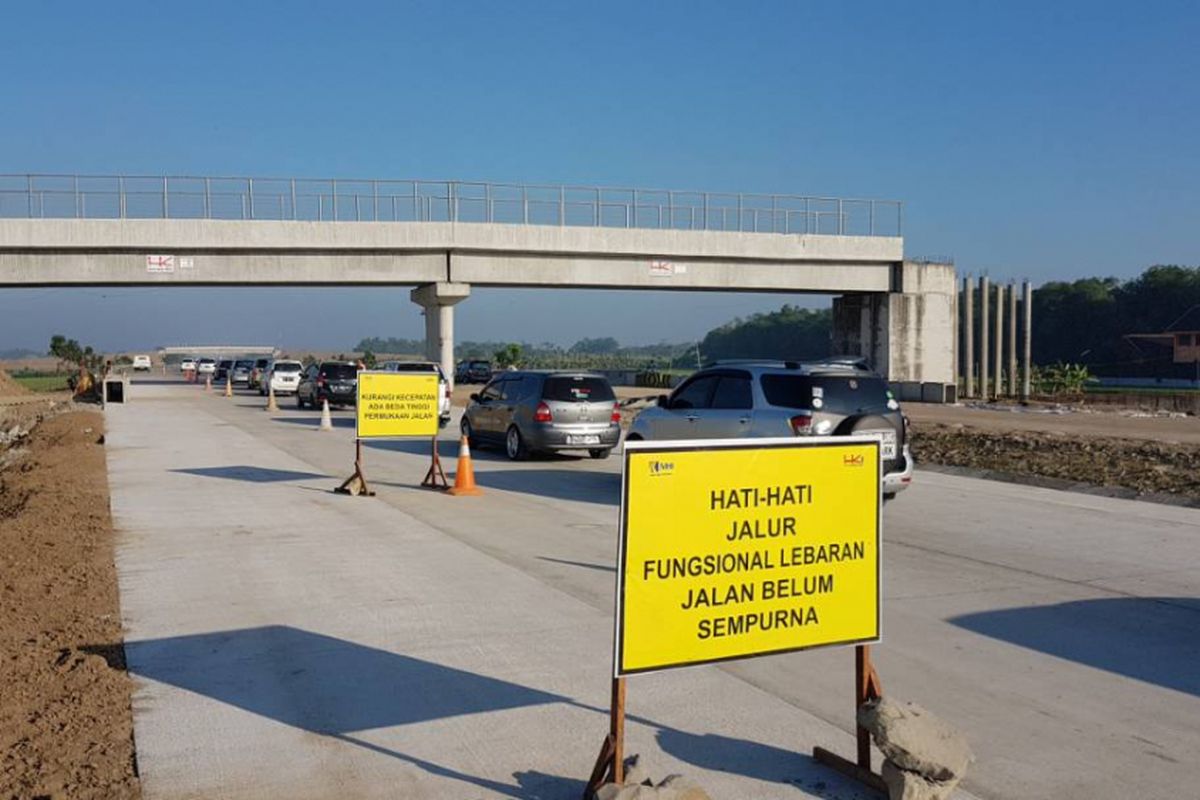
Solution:
[[[502,445],[514,461],[559,450],[607,458],[620,439],[620,409],[604,375],[518,369],[472,395],[461,426],[472,445]]]

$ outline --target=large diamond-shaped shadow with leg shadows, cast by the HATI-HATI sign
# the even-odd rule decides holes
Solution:
[[[517,800],[576,800],[590,764],[580,766],[578,778],[515,771],[510,784],[391,750],[370,741],[366,732],[553,703],[595,712],[596,741],[607,728],[607,709],[283,625],[126,642],[124,662],[120,645],[84,650],[104,656],[115,669],[126,668],[142,678]],[[827,796],[827,786],[840,790],[828,796],[846,796],[851,787],[802,753],[745,739],[688,733],[644,717],[629,718],[658,728],[665,752],[703,769],[804,787],[817,796]]]

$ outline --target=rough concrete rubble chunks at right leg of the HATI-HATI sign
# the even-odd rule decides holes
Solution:
[[[947,800],[974,760],[961,733],[916,703],[883,697],[858,710],[883,752],[890,800]]]

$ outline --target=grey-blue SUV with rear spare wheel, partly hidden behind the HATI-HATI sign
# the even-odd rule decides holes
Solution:
[[[637,415],[628,440],[878,434],[883,495],[912,481],[908,420],[858,361],[716,363]]]

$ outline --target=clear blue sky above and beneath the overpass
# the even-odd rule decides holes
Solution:
[[[1200,263],[1193,2],[56,2],[4,29],[5,173],[878,197],[904,200],[910,255],[964,272]],[[480,290],[458,332],[680,341],[797,300],[827,302]],[[422,327],[400,289],[0,291],[0,349],[55,331],[348,348]]]

